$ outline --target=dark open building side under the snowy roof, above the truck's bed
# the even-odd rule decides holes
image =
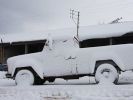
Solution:
[[[80,48],[98,47],[107,45],[119,45],[119,44],[131,44],[133,43],[133,32],[126,33],[119,37],[110,38],[97,38],[80,41]]]

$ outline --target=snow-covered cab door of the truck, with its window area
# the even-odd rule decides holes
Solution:
[[[52,50],[44,54],[44,73],[48,76],[63,76],[75,74],[76,57],[67,41],[54,41]]]

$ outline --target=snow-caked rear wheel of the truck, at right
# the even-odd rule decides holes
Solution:
[[[98,66],[95,73],[96,83],[117,83],[119,73],[117,69],[111,64],[101,64]]]

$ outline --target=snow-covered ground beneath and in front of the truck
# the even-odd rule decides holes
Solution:
[[[133,100],[133,72],[122,73],[118,85],[98,85],[93,77],[82,77],[24,87],[0,72],[0,100]]]

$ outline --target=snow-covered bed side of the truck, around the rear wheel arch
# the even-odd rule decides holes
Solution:
[[[79,61],[77,61],[79,72],[86,71],[87,73],[89,70],[90,73],[94,73],[96,62],[104,60],[113,61],[122,71],[131,70],[133,69],[133,61],[130,57],[133,57],[133,53],[130,50],[133,50],[133,44],[93,47],[89,50],[83,48],[78,52],[80,54],[78,55]],[[84,69],[85,67],[88,69]]]

